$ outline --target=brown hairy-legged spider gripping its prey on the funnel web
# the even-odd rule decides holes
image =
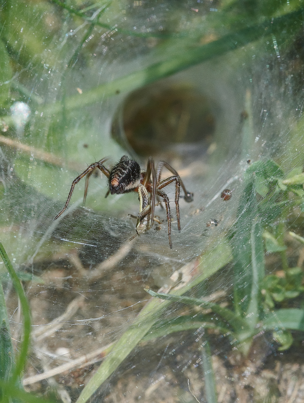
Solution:
[[[147,170],[145,171],[141,171],[138,162],[131,160],[125,155],[120,158],[118,164],[114,165],[111,170],[103,165],[106,160],[108,160],[108,158],[103,158],[97,162],[93,162],[93,164],[89,165],[86,170],[84,170],[77,178],[74,179],[70,188],[70,193],[66,199],[66,204],[60,213],[57,214],[55,220],[61,216],[64,210],[66,210],[68,204],[70,203],[75,185],[77,185],[77,183],[84,177],[86,177],[85,193],[83,197],[83,202],[85,202],[89,178],[94,169],[98,168],[108,178],[109,190],[105,197],[108,197],[110,193],[114,195],[128,192],[138,192],[139,194],[139,215],[137,217],[131,215],[133,218],[137,218],[136,234],[131,239],[137,235],[140,236],[141,234],[149,231],[149,229],[153,227],[154,222],[162,222],[158,216],[154,215],[154,210],[156,205],[155,200],[163,200],[167,214],[169,245],[172,249],[169,198],[162,189],[170,183],[175,182],[175,205],[178,231],[180,231],[180,207],[178,204],[180,198],[180,187],[182,187],[185,193],[184,199],[186,202],[189,203],[193,201],[193,193],[190,193],[186,190],[186,187],[180,179],[178,172],[176,172],[176,170],[165,161],[159,162],[156,170],[152,157],[149,158]],[[160,177],[162,168],[167,168],[173,174],[173,176],[161,180]]]

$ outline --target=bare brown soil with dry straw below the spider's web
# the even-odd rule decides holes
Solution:
[[[26,268],[43,280],[25,283],[33,323],[23,381],[26,390],[39,395],[52,391],[63,402],[75,401],[97,370],[106,347],[120,337],[149,300],[144,287],[159,288],[155,262],[139,253],[136,243],[123,246],[124,251],[117,251],[119,269],[116,261],[110,265],[107,259],[100,262],[98,254],[94,258],[85,248],[62,250]],[[297,258],[301,256],[297,251]],[[279,269],[279,258],[270,256],[268,265]],[[227,284],[230,271],[227,267],[221,274]],[[216,289],[216,281],[214,285]],[[223,289],[221,301],[229,300],[229,293],[228,287]],[[14,297],[9,302],[13,339],[18,345],[19,310]],[[166,315],[195,315],[199,309],[179,306],[169,308]],[[205,402],[200,346],[206,337],[219,403],[304,402],[301,335],[294,334],[294,345],[279,352],[272,334],[261,332],[244,359],[229,335],[202,327],[140,343],[91,401],[174,403],[196,398]]]

